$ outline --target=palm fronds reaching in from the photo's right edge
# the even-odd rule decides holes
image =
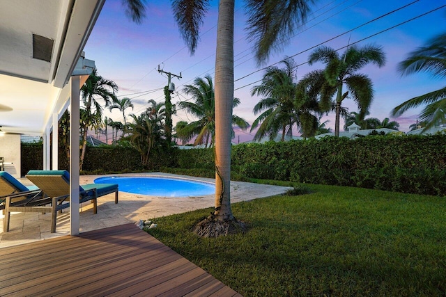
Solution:
[[[412,51],[406,60],[399,63],[403,75],[429,72],[433,77],[446,78],[446,32],[436,35],[424,47]],[[426,122],[424,130],[445,122],[446,87],[413,97],[392,110],[392,115],[402,115],[408,109],[427,104],[420,118]]]

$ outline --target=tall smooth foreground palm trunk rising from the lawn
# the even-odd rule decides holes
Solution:
[[[215,211],[233,220],[231,210],[231,120],[234,93],[234,0],[220,0],[215,57]]]

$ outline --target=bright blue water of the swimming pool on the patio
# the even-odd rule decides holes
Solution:
[[[187,197],[215,193],[214,184],[166,177],[99,177],[94,182],[118,184],[119,191],[142,195]]]

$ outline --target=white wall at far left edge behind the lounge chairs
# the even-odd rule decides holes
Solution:
[[[15,178],[20,178],[22,172],[21,156],[20,156],[20,135],[6,134],[0,136],[0,156],[3,156],[6,163],[5,171]]]

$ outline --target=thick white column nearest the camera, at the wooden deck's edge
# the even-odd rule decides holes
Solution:
[[[70,78],[70,234],[79,234],[79,77]]]

